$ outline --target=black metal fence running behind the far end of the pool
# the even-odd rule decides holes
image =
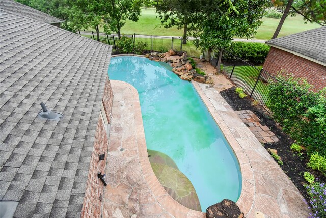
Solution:
[[[86,33],[86,31],[84,33]],[[89,33],[88,37],[94,40],[97,39],[93,31],[87,33]],[[140,42],[145,42],[146,46],[144,47],[144,49],[148,51],[165,52],[172,48],[175,50],[184,50],[188,53],[189,57],[193,57],[193,58],[199,58],[200,55],[203,54],[202,50],[196,47],[193,39],[187,39],[187,43],[182,44],[183,41],[182,37],[155,36],[155,35],[145,35],[145,34],[132,34],[132,35],[124,35],[124,36],[132,38],[134,46]],[[107,35],[105,33],[101,33],[99,37],[99,41],[112,45],[113,52],[117,52],[119,50],[117,45],[119,38],[116,35]]]

